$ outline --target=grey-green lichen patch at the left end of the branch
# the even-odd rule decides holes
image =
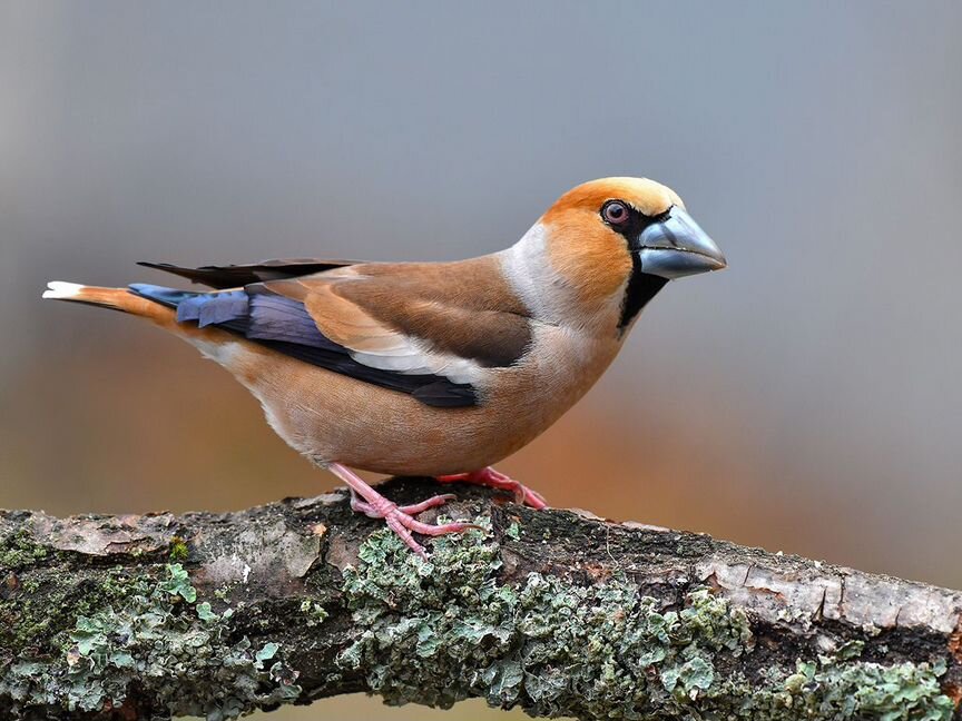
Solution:
[[[167,565],[159,580],[115,583],[122,592],[108,594],[112,603],[79,615],[52,640],[56,658],[20,653],[6,668],[0,663],[0,698],[14,702],[14,713],[116,708],[135,682],[155,709],[210,721],[300,695],[279,644],[232,639],[232,611],[195,603],[197,592],[179,564]]]

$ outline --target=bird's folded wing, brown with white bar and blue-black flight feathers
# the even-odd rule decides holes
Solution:
[[[180,322],[217,325],[432,406],[475,405],[485,372],[517,363],[531,342],[530,319],[490,258],[325,267],[220,293],[131,289],[176,307]]]

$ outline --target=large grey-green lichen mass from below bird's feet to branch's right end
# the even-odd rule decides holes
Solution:
[[[483,518],[480,520],[483,523]],[[498,582],[482,532],[444,536],[423,561],[389,531],[344,573],[356,636],[338,656],[393,704],[448,708],[480,695],[532,715],[582,719],[948,720],[926,663],[799,660],[747,678],[745,614],[707,589],[677,608],[625,576],[583,586],[531,573]]]

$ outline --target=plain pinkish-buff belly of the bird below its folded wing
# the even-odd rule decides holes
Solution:
[[[277,434],[312,461],[392,475],[444,475],[497,463],[587,389],[560,387],[537,368],[504,369],[482,405],[436,408],[259,349],[224,365],[261,401]]]

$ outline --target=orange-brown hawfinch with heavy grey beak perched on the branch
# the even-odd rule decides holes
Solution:
[[[399,505],[356,471],[485,485],[546,507],[493,465],[588,392],[666,284],[727,261],[674,190],[611,177],[565,192],[507,249],[465,260],[139,265],[212,289],[55,280],[42,297],[140,316],[194,345],[347,485],[355,512],[426,557],[414,534],[472,527],[415,517],[453,495]]]

